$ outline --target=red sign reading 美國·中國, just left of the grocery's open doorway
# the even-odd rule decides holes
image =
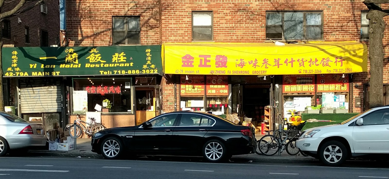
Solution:
[[[228,96],[228,76],[207,75],[207,96]]]

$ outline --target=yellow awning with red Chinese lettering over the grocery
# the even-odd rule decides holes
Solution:
[[[166,74],[299,75],[367,71],[364,43],[163,43]]]

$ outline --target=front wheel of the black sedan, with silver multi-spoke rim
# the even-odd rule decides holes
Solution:
[[[123,143],[117,137],[108,137],[107,139],[104,139],[100,146],[101,154],[106,159],[119,159],[123,150]]]

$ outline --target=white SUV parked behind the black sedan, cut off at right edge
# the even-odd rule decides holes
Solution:
[[[342,123],[303,131],[296,146],[329,166],[347,158],[389,157],[389,106],[368,109]]]

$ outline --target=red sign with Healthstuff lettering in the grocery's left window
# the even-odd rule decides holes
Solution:
[[[186,77],[188,78],[186,80]],[[180,94],[181,96],[204,96],[205,92],[204,75],[181,75]]]

